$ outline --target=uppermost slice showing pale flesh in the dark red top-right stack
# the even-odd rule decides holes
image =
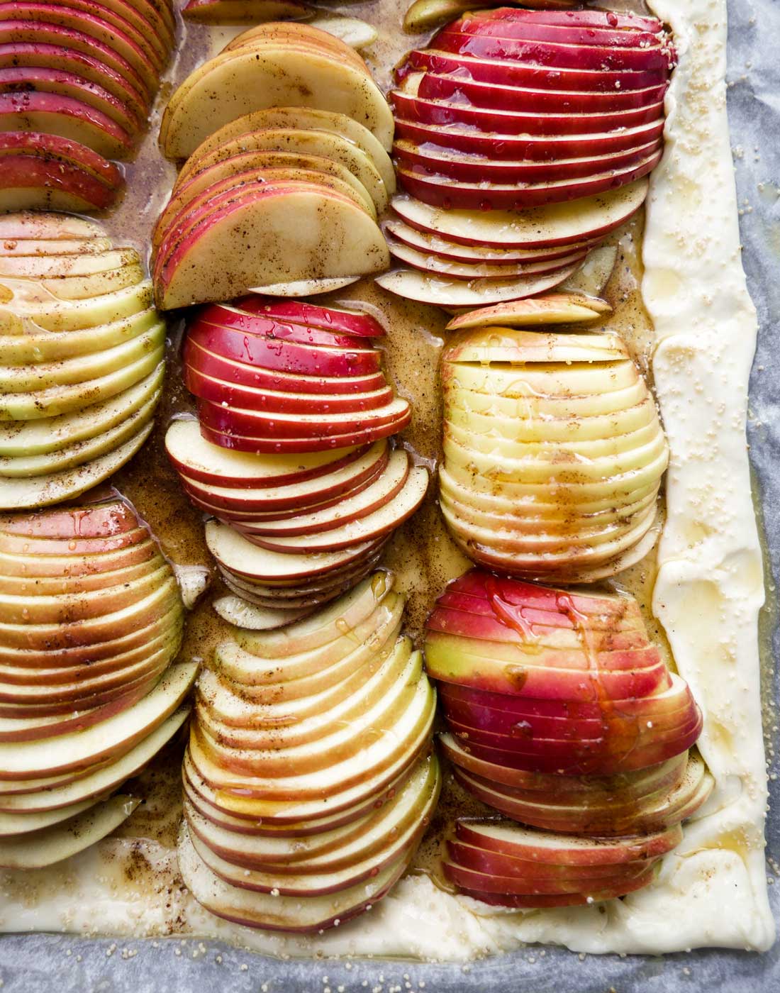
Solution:
[[[402,197],[392,206],[410,226],[459,244],[530,248],[605,236],[635,213],[646,195],[647,181],[639,180],[614,193],[587,198],[576,210],[572,205],[555,204],[522,213],[442,211]]]

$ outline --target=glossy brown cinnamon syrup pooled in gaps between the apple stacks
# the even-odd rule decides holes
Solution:
[[[363,55],[384,90],[390,87],[392,68],[403,55],[427,41],[427,36],[409,36],[402,32],[401,22],[407,6],[406,0],[378,0],[330,8],[333,13],[363,18],[379,30],[379,39]],[[632,0],[609,6],[618,10],[647,11],[644,3]],[[142,256],[148,257],[152,227],[167,202],[176,176],[174,166],[162,158],[157,148],[162,109],[171,92],[190,71],[240,30],[209,31],[201,26],[180,25],[178,54],[161,87],[150,131],[136,159],[126,168],[127,193],[117,209],[100,218],[117,244],[134,245]],[[640,212],[607,239],[606,243],[618,247],[615,268],[603,294],[614,311],[600,325],[589,325],[588,328],[603,328],[620,334],[642,370],[648,373],[654,332],[640,293],[643,223],[644,216]],[[318,301],[348,304],[365,310],[385,328],[386,338],[379,344],[384,351],[388,377],[397,392],[407,397],[413,406],[412,423],[400,436],[400,441],[435,474],[442,438],[438,364],[447,336],[444,327],[448,316],[437,308],[394,297],[370,279],[319,297]],[[182,651],[183,658],[207,659],[216,641],[224,634],[221,622],[210,608],[210,601],[225,591],[220,587],[205,547],[203,515],[184,496],[164,447],[171,419],[195,411],[192,398],[182,383],[179,355],[183,327],[183,322],[176,317],[169,322],[167,383],[155,430],[142,451],[116,474],[112,483],[119,493],[132,500],[174,563],[210,568],[212,585],[189,615]],[[421,509],[391,539],[383,564],[396,573],[396,588],[408,595],[406,631],[419,645],[425,619],[437,596],[449,580],[470,565],[444,526],[435,485]],[[666,639],[651,612],[655,575],[653,552],[614,580],[601,584],[601,588],[625,590],[637,597],[651,637],[673,664]],[[141,904],[159,903],[167,898],[175,908],[172,894],[180,888],[181,880],[172,869],[173,863],[165,859],[150,862],[142,854],[139,842],[152,842],[163,849],[176,847],[182,812],[180,767],[185,741],[185,734],[178,736],[138,780],[128,784],[127,788],[140,794],[143,802],[114,832],[114,840],[104,846],[106,874],[97,880],[97,885],[105,896],[121,888],[125,894],[132,892]],[[490,812],[455,784],[445,765],[442,798],[410,871],[428,873],[438,885],[450,889],[440,871],[442,836],[448,823],[455,815]],[[66,864],[55,871],[3,873],[0,878],[6,895],[27,907],[45,901],[47,895],[51,896],[55,891],[62,893],[63,888],[70,885]],[[172,910],[165,929],[176,933],[180,924]]]

